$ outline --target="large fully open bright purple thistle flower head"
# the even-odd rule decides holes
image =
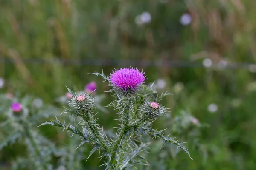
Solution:
[[[110,82],[114,87],[124,91],[134,91],[137,87],[144,83],[145,73],[140,72],[137,68],[120,68],[110,74]]]

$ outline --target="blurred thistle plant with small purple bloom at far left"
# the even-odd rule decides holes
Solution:
[[[65,152],[56,148],[55,144],[36,131],[35,125],[38,124],[38,119],[53,116],[58,109],[48,105],[38,110],[31,105],[32,98],[28,96],[22,99],[14,98],[5,103],[9,106],[0,106],[2,108],[1,113],[5,113],[2,114],[5,116],[5,120],[0,124],[1,136],[3,136],[0,142],[0,150],[18,142],[26,146],[26,153],[29,157],[28,159],[24,154],[24,157],[17,158],[16,161],[12,162],[12,169],[53,169],[49,163],[52,160],[52,155],[59,157],[65,155]]]

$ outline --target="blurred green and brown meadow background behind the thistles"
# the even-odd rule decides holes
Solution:
[[[166,155],[168,170],[255,170],[255,8],[254,0],[0,0],[0,91],[53,104],[65,85],[108,90],[88,73],[143,68],[147,84],[175,94],[163,102],[169,119],[189,110],[209,124],[198,138],[204,152],[188,140],[194,161]],[[99,115],[116,125],[116,115]],[[86,164],[97,167],[97,155]]]

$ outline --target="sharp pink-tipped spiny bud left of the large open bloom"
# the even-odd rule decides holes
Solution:
[[[94,108],[95,99],[90,95],[80,94],[74,95],[68,102],[68,105],[76,111],[90,111]]]

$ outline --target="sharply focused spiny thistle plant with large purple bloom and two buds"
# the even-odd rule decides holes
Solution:
[[[168,93],[160,96],[151,87],[144,84],[145,73],[134,68],[121,68],[114,70],[105,76],[93,73],[108,82],[110,92],[115,100],[111,101],[107,107],[113,108],[117,112],[120,126],[116,127],[116,135],[107,137],[103,128],[97,123],[95,97],[93,91],[90,94],[76,93],[68,88],[72,98],[68,102],[69,108],[63,113],[70,114],[80,119],[78,124],[66,124],[55,121],[44,122],[39,126],[52,125],[68,130],[79,135],[81,143],[78,148],[85,143],[93,144],[93,150],[88,158],[99,150],[100,158],[104,160],[106,170],[123,170],[136,164],[149,165],[143,158],[150,143],[143,142],[142,136],[148,135],[160,139],[165,143],[175,144],[189,155],[189,150],[183,146],[183,142],[178,142],[173,137],[165,136],[163,131],[152,128],[154,120],[168,113],[168,109],[160,104],[160,101]],[[190,155],[189,155],[190,156]]]

